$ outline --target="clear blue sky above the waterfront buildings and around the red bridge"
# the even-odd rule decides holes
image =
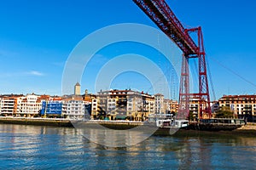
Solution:
[[[202,26],[217,99],[223,94],[255,94],[256,2],[166,2],[184,26]],[[131,0],[1,1],[0,22],[0,94],[61,94],[65,62],[85,36],[119,23],[156,27]],[[136,48],[134,44],[125,47]],[[99,52],[100,62],[113,56],[111,49]],[[164,65],[165,61],[154,62]],[[148,81],[138,77],[126,72],[116,77],[111,88],[147,91]],[[124,81],[127,79],[129,83]],[[177,83],[176,90],[172,89],[176,97]],[[81,85],[83,91],[88,88],[95,93],[87,77],[82,78]]]

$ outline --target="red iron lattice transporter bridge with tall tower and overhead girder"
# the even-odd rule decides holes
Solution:
[[[200,118],[211,118],[212,113],[205,59],[206,53],[201,27],[193,29],[184,28],[165,0],[133,0],[133,2],[183,51],[178,118],[189,116],[190,96],[199,99]],[[197,42],[190,37],[189,33],[191,32],[197,33]],[[189,93],[189,59],[192,58],[198,59],[199,65],[199,92],[196,94]]]

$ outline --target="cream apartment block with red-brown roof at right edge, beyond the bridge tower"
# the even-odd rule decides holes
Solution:
[[[256,95],[224,95],[218,99],[219,107],[230,107],[234,116],[256,122]]]

